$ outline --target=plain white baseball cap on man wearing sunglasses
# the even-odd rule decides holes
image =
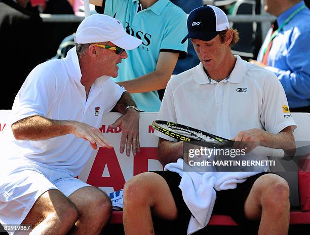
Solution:
[[[113,17],[94,14],[85,18],[75,33],[75,43],[111,42],[116,46],[132,50],[142,41],[126,33],[123,24]]]

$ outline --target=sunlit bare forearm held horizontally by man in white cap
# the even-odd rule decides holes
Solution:
[[[35,115],[13,123],[11,128],[17,140],[45,140],[72,133],[73,123]]]

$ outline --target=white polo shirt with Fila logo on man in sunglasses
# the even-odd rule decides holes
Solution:
[[[32,115],[79,121],[99,128],[102,116],[115,106],[125,89],[111,77],[102,76],[92,85],[86,99],[81,76],[75,47],[66,58],[47,61],[30,72],[15,98],[8,127],[3,132],[2,158],[45,164],[73,177],[82,171],[93,153],[88,141],[72,134],[42,141],[16,140],[9,128]]]

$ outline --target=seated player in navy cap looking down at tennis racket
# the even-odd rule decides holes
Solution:
[[[293,149],[296,126],[287,115],[280,82],[272,72],[232,55],[230,47],[239,36],[224,12],[214,6],[197,8],[189,14],[187,28],[183,42],[191,38],[201,63],[170,80],[158,119],[238,141],[247,153],[258,144]],[[126,183],[127,235],[153,234],[152,216],[176,221],[183,233],[191,234],[205,227],[212,213],[227,214],[239,225],[260,221],[258,234],[287,234],[289,187],[283,178],[263,169],[186,171],[183,142],[156,135],[166,171],[142,173]]]

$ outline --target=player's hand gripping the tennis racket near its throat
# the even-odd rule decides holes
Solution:
[[[245,149],[245,152],[249,153],[260,144],[265,133],[263,130],[254,128],[238,132],[237,136],[231,140],[235,141],[234,148]]]

